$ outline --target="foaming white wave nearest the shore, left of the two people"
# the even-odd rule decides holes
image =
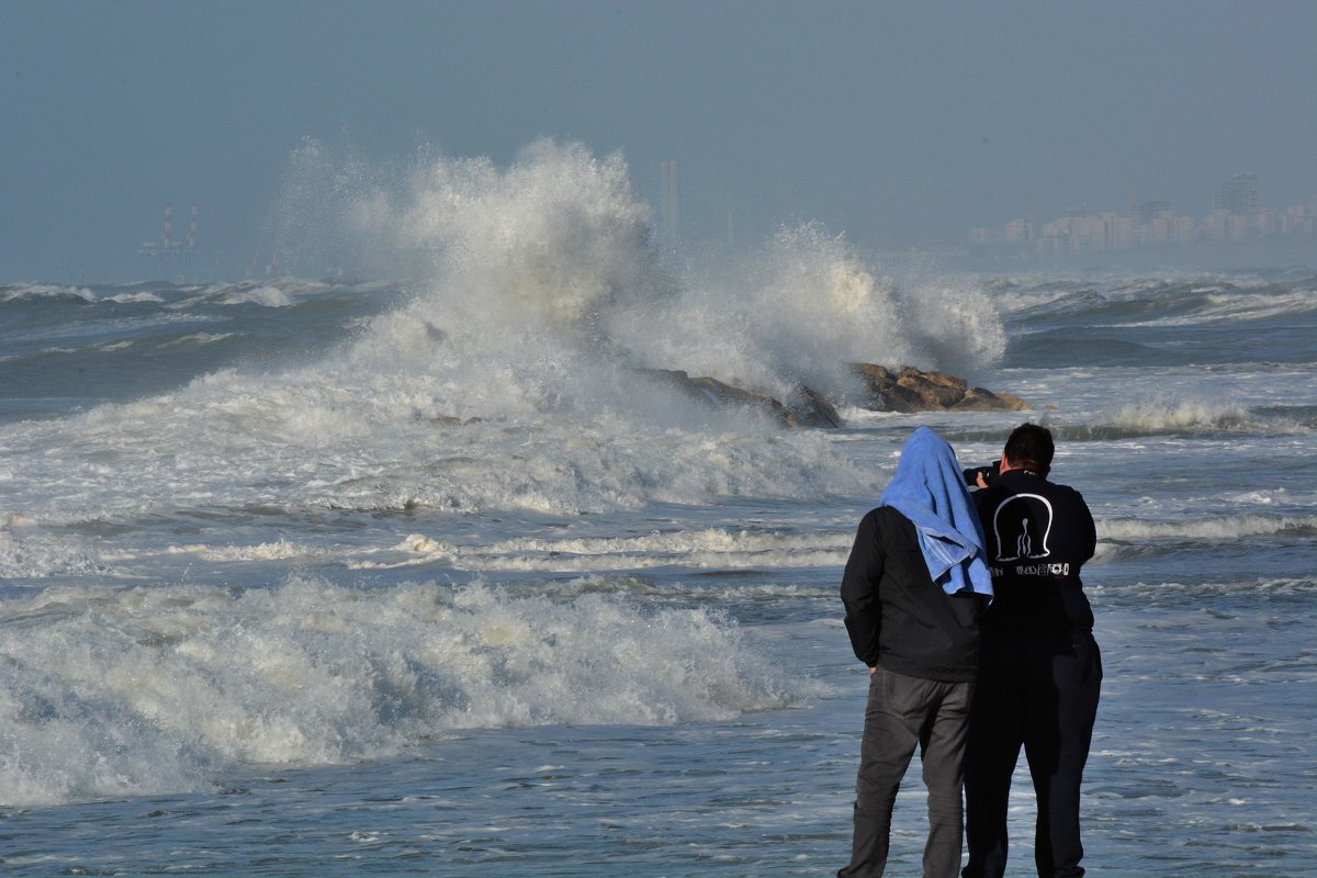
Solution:
[[[818,691],[715,612],[597,592],[84,586],[0,602],[0,621],[4,806],[199,790],[466,728],[724,721]]]

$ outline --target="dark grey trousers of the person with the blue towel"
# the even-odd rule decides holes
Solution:
[[[851,864],[838,878],[878,878],[888,865],[892,807],[919,746],[928,788],[925,878],[955,878],[960,869],[965,733],[972,683],[903,677],[878,667],[869,679],[860,773],[855,783]]]

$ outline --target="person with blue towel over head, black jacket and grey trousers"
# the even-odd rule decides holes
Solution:
[[[851,862],[877,878],[897,790],[921,748],[928,788],[926,878],[955,878],[963,836],[965,731],[990,599],[984,536],[951,446],[927,426],[901,452],[878,508],[860,521],[842,577],[846,628],[869,669]]]

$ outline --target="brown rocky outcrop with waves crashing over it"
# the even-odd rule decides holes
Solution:
[[[1029,404],[1009,394],[969,387],[963,378],[926,373],[910,366],[893,373],[873,363],[855,363],[852,370],[864,379],[863,408],[876,412],[1022,412]],[[716,378],[691,378],[681,370],[645,369],[643,374],[664,380],[691,399],[712,407],[740,405],[763,412],[785,426],[840,426],[836,407],[822,394],[801,384],[780,401],[764,394],[735,387]]]

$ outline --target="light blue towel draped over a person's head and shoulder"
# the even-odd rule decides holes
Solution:
[[[944,438],[927,426],[910,434],[878,505],[890,505],[914,523],[928,575],[948,595],[992,596],[982,524],[956,453]]]

